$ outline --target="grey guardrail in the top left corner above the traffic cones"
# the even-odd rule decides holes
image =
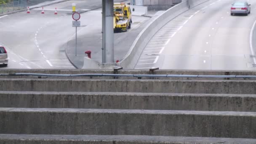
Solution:
[[[27,8],[27,0],[16,0],[11,3],[5,3],[0,5],[0,14],[9,13]]]

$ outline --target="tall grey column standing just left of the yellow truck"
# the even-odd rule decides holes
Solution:
[[[102,63],[114,63],[114,0],[102,0]]]

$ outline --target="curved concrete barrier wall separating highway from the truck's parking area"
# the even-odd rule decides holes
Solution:
[[[118,63],[118,66],[124,67],[125,69],[133,69],[141,55],[144,47],[147,45],[149,40],[155,35],[155,33],[161,29],[168,21],[171,21],[176,16],[179,16],[181,13],[189,10],[189,8],[195,7],[201,3],[204,3],[208,0],[186,0],[178,5],[173,6],[172,8],[168,9],[165,13],[158,16],[156,19],[152,20],[147,27],[145,27],[141,33],[138,35],[136,40],[134,41],[133,45],[131,46],[130,50],[124,57],[124,59]],[[83,69],[88,68],[110,68],[112,69],[116,64],[108,64],[108,67],[105,67],[104,64],[95,64],[88,59],[84,59],[84,66]],[[88,67],[90,66],[90,67]]]

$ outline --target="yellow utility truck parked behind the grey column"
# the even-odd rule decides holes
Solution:
[[[131,29],[131,8],[126,3],[114,3],[114,32]]]

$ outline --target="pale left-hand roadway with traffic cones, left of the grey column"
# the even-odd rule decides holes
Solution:
[[[101,6],[101,0],[72,0],[44,7],[45,14],[37,8],[30,13],[23,11],[0,16],[0,44],[5,46],[9,57],[8,67],[0,68],[74,69],[64,52],[67,41],[75,33],[72,3],[77,3],[77,11]],[[58,14],[54,14],[55,8]],[[93,16],[93,13],[82,13],[82,27],[77,30],[83,29],[86,18]],[[101,15],[98,16],[101,19]],[[101,21],[96,22],[101,25]]]

